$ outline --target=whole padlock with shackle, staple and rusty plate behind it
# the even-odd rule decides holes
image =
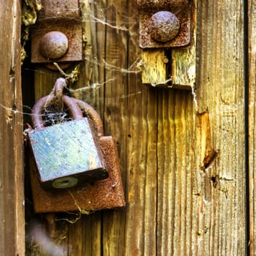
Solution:
[[[125,206],[116,140],[104,136],[94,108],[62,94],[64,83],[59,78],[32,111],[34,129],[28,135],[34,153],[29,157],[34,209],[45,213]],[[75,119],[45,127],[49,120],[42,116],[62,108]],[[56,120],[53,111],[50,115],[50,121]]]

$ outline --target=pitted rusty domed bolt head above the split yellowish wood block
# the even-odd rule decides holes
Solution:
[[[148,32],[158,42],[170,41],[176,37],[179,28],[178,18],[172,12],[157,12],[148,21]]]

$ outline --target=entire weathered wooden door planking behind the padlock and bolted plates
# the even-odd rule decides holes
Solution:
[[[256,3],[194,4],[192,95],[141,83],[136,0],[81,1],[84,61],[70,91],[118,141],[127,206],[41,216],[27,192],[27,255],[256,255]],[[20,113],[61,74],[26,59],[22,109],[20,1],[1,0],[0,18],[0,254],[23,255]]]

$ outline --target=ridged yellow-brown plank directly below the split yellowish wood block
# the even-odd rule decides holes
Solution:
[[[190,255],[195,111],[189,91],[159,91],[157,252]]]

